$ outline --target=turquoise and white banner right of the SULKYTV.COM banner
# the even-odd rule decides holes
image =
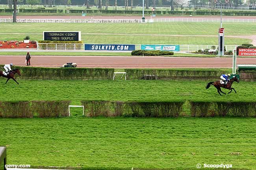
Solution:
[[[179,45],[141,45],[141,50],[180,51]]]

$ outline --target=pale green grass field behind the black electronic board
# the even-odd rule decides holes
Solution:
[[[255,35],[253,29],[255,23],[224,23],[225,35]],[[166,22],[145,24],[75,24],[75,23],[2,23],[1,40],[22,40],[30,35],[32,40],[42,40],[43,31],[81,31],[82,33],[93,33],[95,35],[82,35],[84,43],[127,43],[127,44],[205,44],[214,45],[218,43],[217,36],[219,23],[193,23],[193,22]],[[241,29],[243,27],[243,29]],[[22,28],[22,29],[17,29]],[[22,33],[22,34],[13,34]],[[24,33],[24,34],[23,34]],[[40,33],[40,34],[29,34]],[[137,34],[137,35],[98,35],[108,34]],[[153,35],[151,35],[153,34]],[[202,37],[178,37],[167,35],[204,35]],[[226,37],[226,45],[236,45],[251,42],[246,38]]]

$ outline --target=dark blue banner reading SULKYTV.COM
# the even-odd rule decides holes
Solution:
[[[133,51],[133,44],[84,44],[84,50]]]

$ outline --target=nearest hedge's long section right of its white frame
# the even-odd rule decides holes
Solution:
[[[223,101],[81,101],[88,117],[179,117],[183,108],[190,110],[191,117],[256,117],[256,102]]]

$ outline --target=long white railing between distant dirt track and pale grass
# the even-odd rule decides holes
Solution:
[[[256,22],[256,19],[223,18],[223,22]],[[0,22],[13,22],[0,18]],[[145,19],[17,19],[21,23],[151,23],[151,22],[221,22],[220,18],[152,18]]]

